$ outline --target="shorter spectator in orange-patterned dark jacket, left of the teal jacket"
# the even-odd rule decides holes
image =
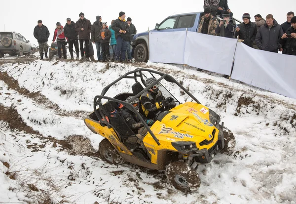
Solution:
[[[102,29],[99,33],[99,36],[101,38],[102,62],[106,62],[106,60],[109,60],[110,56],[109,43],[111,38],[111,31],[107,28],[106,23],[102,24]]]

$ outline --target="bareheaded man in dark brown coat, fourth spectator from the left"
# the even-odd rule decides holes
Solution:
[[[78,39],[80,44],[81,60],[89,61],[89,34],[91,32],[91,22],[84,18],[84,13],[79,13],[79,20],[76,22],[75,31],[78,33]],[[83,42],[85,42],[86,50],[85,57],[83,52]]]

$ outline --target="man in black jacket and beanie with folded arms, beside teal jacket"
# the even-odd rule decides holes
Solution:
[[[123,62],[125,61],[126,33],[130,30],[123,11],[119,12],[119,17],[112,23],[111,27],[115,32],[116,39],[115,61]]]

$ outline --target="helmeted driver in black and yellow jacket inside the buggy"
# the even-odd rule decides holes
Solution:
[[[148,87],[155,81],[155,78],[148,78],[145,82],[145,86]],[[168,101],[162,95],[161,91],[158,89],[158,86],[159,84],[153,85],[150,89],[148,89],[140,96],[142,110],[148,119],[154,119],[156,113],[162,107],[170,107],[170,101]]]

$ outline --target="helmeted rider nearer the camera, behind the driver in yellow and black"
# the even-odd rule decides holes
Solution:
[[[128,102],[129,100],[131,100],[134,96],[129,96],[127,97],[127,99],[125,100],[126,102]],[[135,108],[136,110],[139,112],[140,110],[140,101],[138,98],[132,100],[130,102]],[[127,123],[127,125],[132,129],[132,130],[138,130],[141,127],[144,127],[144,124],[140,121],[140,119],[138,118],[138,116],[130,111],[129,109],[127,109],[126,107],[121,108],[122,112],[122,117],[124,118],[125,122]],[[144,121],[146,121],[146,123],[151,126],[154,121],[153,120],[148,120],[146,117],[143,117]]]

